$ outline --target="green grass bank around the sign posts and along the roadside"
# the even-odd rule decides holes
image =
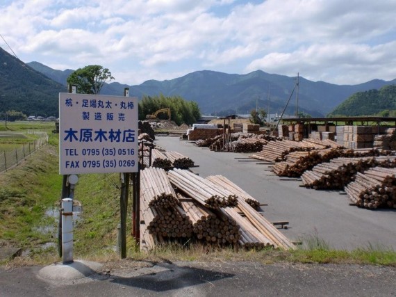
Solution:
[[[22,257],[7,260],[2,264],[44,265],[60,261],[56,247],[56,218],[61,184],[62,176],[58,175],[56,134],[50,134],[49,145],[42,147],[33,157],[17,168],[0,174],[0,239],[2,244],[24,250]],[[80,175],[74,198],[83,206],[81,219],[75,223],[75,259],[97,262],[118,259],[115,245],[119,223],[119,175]],[[130,216],[127,227],[127,234],[131,234]],[[132,236],[127,237],[127,256],[133,259],[210,262],[233,260],[261,263],[286,261],[396,266],[396,252],[392,249],[365,246],[352,251],[335,250],[317,236],[302,238],[305,248],[292,252],[236,252],[231,248],[213,249],[190,241],[185,246],[165,246],[148,253],[135,252]]]

